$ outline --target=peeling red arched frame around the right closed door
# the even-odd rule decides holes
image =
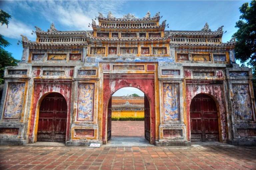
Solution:
[[[224,106],[222,84],[186,84],[186,104],[187,104],[187,135],[188,140],[191,141],[190,129],[190,104],[192,99],[198,94],[206,94],[214,99],[218,109],[218,123],[219,123],[219,140],[225,142],[227,140],[226,129],[226,109]]]

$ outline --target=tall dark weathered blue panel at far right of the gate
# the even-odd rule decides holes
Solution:
[[[236,120],[252,120],[252,105],[248,84],[233,84],[233,108]]]

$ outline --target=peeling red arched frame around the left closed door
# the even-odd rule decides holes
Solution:
[[[29,122],[29,143],[34,143],[37,140],[37,126],[39,119],[40,105],[45,96],[50,93],[61,94],[67,102],[67,127],[66,127],[66,139],[70,138],[70,108],[71,108],[71,84],[69,83],[35,83],[33,99],[31,104],[31,114]]]

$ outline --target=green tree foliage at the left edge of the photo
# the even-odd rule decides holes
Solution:
[[[8,13],[4,12],[3,10],[0,10],[0,23],[1,26],[4,24],[8,28],[9,19],[11,19],[12,16]],[[4,83],[4,68],[7,66],[16,66],[19,60],[13,58],[12,53],[6,51],[4,48],[11,45],[8,41],[4,39],[4,37],[0,34],[0,84]]]

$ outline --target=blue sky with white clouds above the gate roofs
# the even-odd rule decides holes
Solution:
[[[22,44],[17,42],[21,34],[35,41],[31,34],[34,26],[47,31],[53,22],[60,31],[92,30],[88,24],[98,12],[107,16],[111,11],[116,18],[127,13],[142,18],[150,11],[151,16],[160,12],[160,23],[167,20],[166,30],[198,31],[207,22],[215,31],[224,25],[227,33],[222,40],[227,42],[237,30],[239,7],[245,2],[250,1],[0,1],[1,9],[12,15],[8,28],[0,26],[0,34],[12,44],[6,50],[21,59]]]

